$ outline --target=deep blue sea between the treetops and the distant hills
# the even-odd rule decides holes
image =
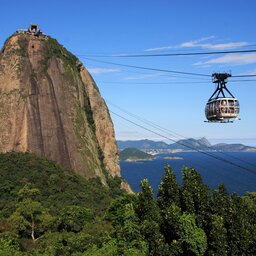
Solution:
[[[168,156],[182,159],[164,158]],[[228,162],[234,163],[235,166]],[[182,168],[187,166],[195,168],[201,174],[203,182],[212,190],[223,183],[229,193],[243,195],[246,192],[256,192],[256,153],[253,152],[209,152],[207,155],[200,152],[159,154],[152,161],[121,161],[121,174],[136,192],[140,191],[140,181],[147,178],[156,194],[166,164],[171,166],[179,184],[182,183]]]

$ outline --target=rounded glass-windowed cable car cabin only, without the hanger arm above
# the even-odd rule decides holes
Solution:
[[[206,104],[205,116],[209,122],[233,122],[238,117],[239,110],[236,98],[212,99]]]

